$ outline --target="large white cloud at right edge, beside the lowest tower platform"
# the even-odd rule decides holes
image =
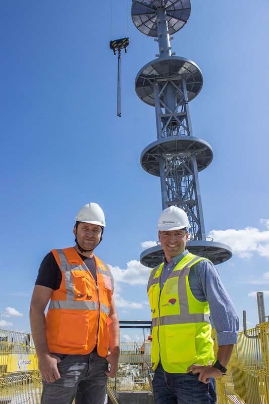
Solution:
[[[233,253],[240,258],[250,259],[253,252],[258,252],[261,257],[269,259],[269,219],[261,219],[268,230],[260,231],[255,227],[246,227],[241,230],[211,230],[208,234],[214,241],[228,244]]]

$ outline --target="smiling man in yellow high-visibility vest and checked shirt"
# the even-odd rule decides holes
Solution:
[[[186,213],[175,206],[162,212],[156,227],[165,259],[151,271],[147,286],[155,404],[212,402],[210,378],[226,373],[237,341],[238,317],[217,269],[186,249],[190,227]]]

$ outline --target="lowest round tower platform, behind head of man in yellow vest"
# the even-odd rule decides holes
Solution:
[[[191,240],[187,243],[187,249],[192,254],[208,258],[214,265],[230,260],[233,255],[229,245],[216,241]],[[148,268],[154,268],[163,262],[164,257],[164,250],[156,245],[141,252],[140,262]]]

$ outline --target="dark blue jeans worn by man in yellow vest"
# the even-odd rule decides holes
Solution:
[[[211,404],[208,384],[190,373],[168,373],[159,364],[152,381],[154,404]]]

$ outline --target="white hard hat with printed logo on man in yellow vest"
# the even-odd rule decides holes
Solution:
[[[172,231],[184,229],[185,227],[187,229],[191,227],[187,214],[183,209],[177,208],[176,206],[170,206],[160,214],[158,225],[155,229],[160,231]]]

